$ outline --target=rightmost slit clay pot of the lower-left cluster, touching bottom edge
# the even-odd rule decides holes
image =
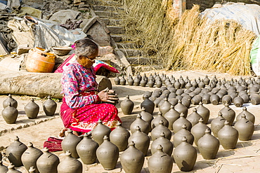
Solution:
[[[48,148],[44,148],[43,154],[38,158],[36,165],[41,173],[58,173],[57,167],[60,159],[57,155],[48,152]]]

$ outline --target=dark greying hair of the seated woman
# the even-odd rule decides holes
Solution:
[[[96,53],[96,51],[98,51],[98,44],[88,38],[75,41],[74,46],[75,54],[78,56],[82,55],[88,57],[90,55],[93,55],[93,53]]]

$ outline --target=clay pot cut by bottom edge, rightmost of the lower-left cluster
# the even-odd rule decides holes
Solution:
[[[65,155],[65,159],[58,164],[58,173],[82,173],[82,162],[72,158],[70,151],[66,151]]]

